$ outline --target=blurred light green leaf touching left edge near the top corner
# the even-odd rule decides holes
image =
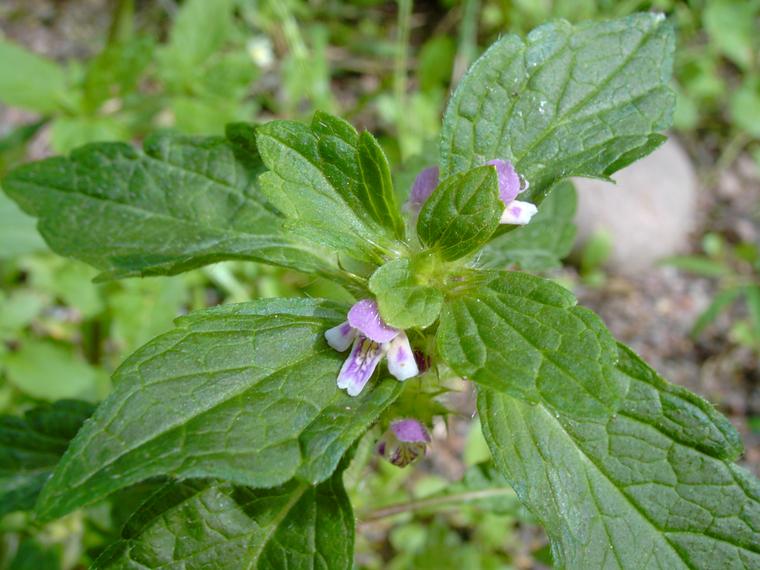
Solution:
[[[58,64],[0,39],[0,101],[51,113],[65,95],[66,78]]]

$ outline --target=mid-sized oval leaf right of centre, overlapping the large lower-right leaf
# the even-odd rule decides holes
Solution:
[[[438,350],[459,375],[564,415],[606,417],[625,384],[617,347],[570,291],[527,273],[483,273],[444,305]]]

